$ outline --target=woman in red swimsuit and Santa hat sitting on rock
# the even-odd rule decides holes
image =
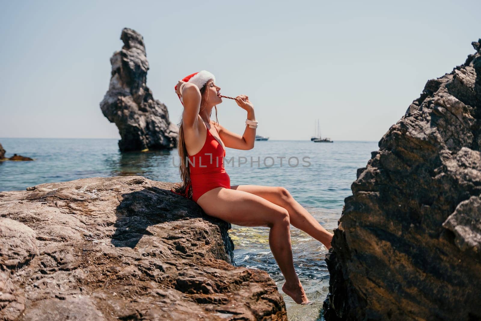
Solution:
[[[206,70],[179,80],[175,86],[184,105],[179,128],[179,190],[213,217],[240,226],[268,226],[269,245],[286,282],[282,291],[299,304],[309,303],[294,270],[290,224],[330,248],[332,234],[326,231],[283,187],[230,185],[224,168],[225,147],[249,150],[254,147],[253,104],[240,95],[236,103],[247,112],[246,128],[238,135],[217,122],[220,87]],[[210,119],[215,107],[216,122]],[[249,121],[248,121],[249,120]],[[187,158],[187,159],[186,159]],[[189,164],[187,164],[187,162]],[[174,191],[175,192],[175,191]],[[177,192],[175,192],[177,193]]]

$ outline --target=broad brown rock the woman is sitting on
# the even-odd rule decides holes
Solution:
[[[0,192],[0,320],[287,320],[230,224],[141,176]]]

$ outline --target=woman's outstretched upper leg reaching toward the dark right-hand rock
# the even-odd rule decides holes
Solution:
[[[333,234],[322,227],[316,218],[313,218],[285,188],[262,185],[234,185],[231,186],[231,189],[252,193],[284,207],[289,212],[289,218],[294,227],[311,235],[328,249],[331,247]]]

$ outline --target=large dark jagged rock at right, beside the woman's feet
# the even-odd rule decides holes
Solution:
[[[326,257],[326,320],[481,319],[481,57],[472,45],[358,169]]]

